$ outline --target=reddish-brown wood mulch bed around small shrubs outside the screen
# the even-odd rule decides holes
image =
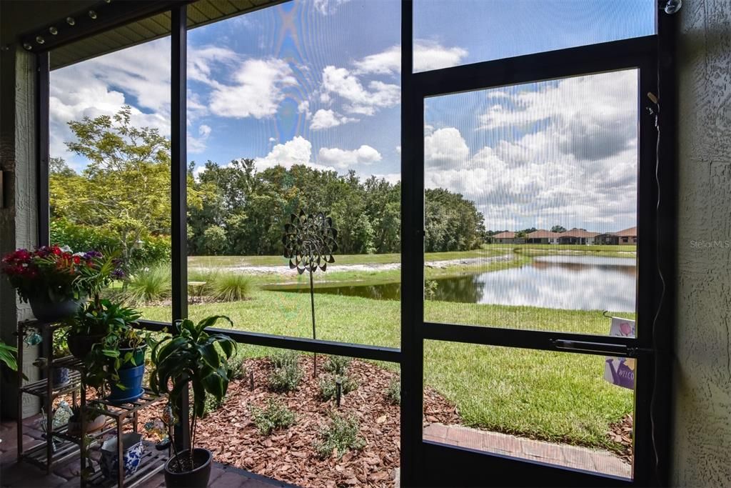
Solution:
[[[196,444],[213,452],[213,458],[237,468],[269,476],[300,487],[368,486],[392,487],[399,463],[400,407],[387,397],[387,388],[396,372],[366,361],[353,360],[348,374],[357,388],[345,395],[340,408],[335,401],[319,398],[318,380],[325,357],[318,356],[318,378],[312,378],[312,356],[300,356],[303,380],[296,391],[276,394],[268,389],[271,370],[268,359],[244,361],[247,377],[229,385],[221,408],[200,420]],[[251,391],[249,374],[254,374]],[[261,435],[251,418],[251,407],[264,408],[276,397],[296,415],[289,429]],[[427,388],[424,397],[425,423],[456,424],[455,406],[436,391]],[[360,435],[366,440],[361,451],[349,451],[341,459],[319,459],[313,444],[319,429],[327,425],[332,413],[355,416]],[[140,412],[140,422],[155,421],[159,413]]]

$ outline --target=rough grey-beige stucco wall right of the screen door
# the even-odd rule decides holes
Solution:
[[[678,331],[671,479],[731,487],[731,1],[678,26]]]

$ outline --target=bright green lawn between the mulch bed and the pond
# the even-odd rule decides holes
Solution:
[[[249,301],[189,306],[189,315],[228,315],[236,329],[311,337],[306,293],[254,291]],[[366,345],[397,347],[401,304],[350,296],[316,296],[317,337]],[[165,307],[146,307],[144,317],[165,320]],[[632,316],[632,314],[623,314]],[[605,335],[607,318],[596,311],[501,305],[425,303],[432,321]],[[242,345],[248,357],[270,350]],[[602,379],[602,356],[498,348],[428,341],[424,348],[425,383],[458,406],[466,424],[616,448],[605,436],[611,422],[632,412],[632,391]],[[385,367],[397,369],[395,364]]]

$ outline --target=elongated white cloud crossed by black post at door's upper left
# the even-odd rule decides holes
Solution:
[[[414,42],[414,71],[439,70],[458,66],[467,56],[463,48],[446,48],[439,42],[416,40]],[[355,61],[357,74],[395,75],[401,72],[401,45]]]

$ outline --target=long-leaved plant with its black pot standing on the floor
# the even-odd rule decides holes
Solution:
[[[205,399],[211,394],[219,402],[228,389],[232,371],[227,360],[235,353],[236,343],[224,334],[208,334],[207,327],[219,319],[230,318],[216,315],[199,323],[178,320],[172,334],[156,342],[152,348],[150,388],[156,393],[168,394],[173,407],[173,418],[181,418],[181,395],[193,389],[192,415],[190,419],[190,448],[178,451],[173,442],[175,456],[165,463],[167,487],[207,487],[211,476],[213,454],[205,448],[195,447],[197,419],[203,416]],[[175,439],[173,439],[175,440]]]

